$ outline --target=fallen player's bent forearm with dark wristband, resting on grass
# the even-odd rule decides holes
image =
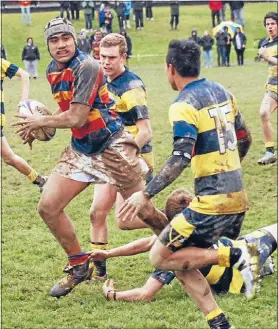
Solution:
[[[164,283],[149,277],[140,288],[118,291],[113,280],[107,280],[103,285],[103,294],[108,300],[124,300],[127,302],[149,302],[164,286]]]

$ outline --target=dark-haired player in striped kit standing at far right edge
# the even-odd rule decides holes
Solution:
[[[278,101],[278,14],[270,12],[264,17],[264,26],[268,37],[262,42],[259,56],[268,63],[268,80],[266,91],[260,107],[260,117],[263,128],[265,153],[258,160],[258,164],[265,165],[277,161],[272,139],[272,127],[270,123],[271,114],[277,110]]]

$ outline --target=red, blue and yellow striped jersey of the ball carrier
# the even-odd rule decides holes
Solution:
[[[72,147],[87,155],[104,151],[123,125],[108,95],[99,63],[77,49],[65,68],[59,70],[53,59],[46,73],[53,97],[63,112],[69,110],[71,103],[91,107],[84,126],[71,129]]]

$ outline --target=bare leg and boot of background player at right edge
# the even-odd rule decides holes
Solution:
[[[272,139],[272,126],[270,123],[270,116],[277,109],[277,97],[277,93],[267,90],[260,107],[260,117],[265,142],[265,154],[258,160],[258,164],[269,164],[277,161]]]

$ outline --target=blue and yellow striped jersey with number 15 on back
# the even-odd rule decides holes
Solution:
[[[196,197],[189,208],[196,212],[220,215],[247,210],[235,133],[239,115],[234,97],[206,79],[189,83],[169,109],[174,139],[195,140],[191,169]]]

